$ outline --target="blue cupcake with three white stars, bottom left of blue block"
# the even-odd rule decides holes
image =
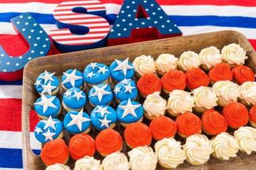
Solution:
[[[40,120],[34,129],[34,136],[39,142],[46,143],[50,140],[63,137],[62,122],[49,117],[48,120]]]

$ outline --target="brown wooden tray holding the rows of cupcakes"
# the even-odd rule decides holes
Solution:
[[[106,65],[110,65],[115,58],[125,59],[129,56],[129,60],[132,61],[136,56],[141,54],[151,55],[157,58],[162,53],[174,54],[179,57],[183,52],[192,50],[199,53],[201,49],[209,46],[216,46],[222,49],[223,46],[236,43],[240,44],[247,52],[249,59],[246,60],[247,66],[251,67],[256,73],[256,54],[255,50],[248,42],[247,38],[243,34],[234,31],[213,32],[209,34],[198,34],[193,36],[183,36],[177,38],[166,38],[162,40],[154,40],[148,42],[140,42],[135,44],[125,44],[121,46],[111,46],[106,48],[98,48],[94,50],[84,50],[79,52],[72,52],[67,54],[59,54],[55,56],[45,56],[36,58],[28,62],[24,69],[24,81],[23,81],[23,97],[22,97],[22,142],[23,142],[23,166],[24,169],[44,169],[45,165],[42,163],[39,156],[34,155],[30,146],[30,110],[34,109],[33,103],[38,99],[39,95],[34,88],[34,82],[36,77],[44,70],[50,72],[56,72],[56,76],[61,76],[64,71],[68,69],[78,69],[84,71],[84,68],[90,64],[90,62],[102,62]],[[88,92],[88,89],[84,89]],[[60,93],[63,93],[61,91]],[[59,99],[62,99],[61,94],[57,95]],[[88,102],[89,103],[89,102]],[[86,109],[90,113],[90,107],[86,106]],[[65,114],[63,112],[62,114]],[[146,124],[149,122],[144,121]],[[117,126],[115,130],[118,130],[123,136],[123,127]],[[95,139],[98,130],[91,130],[90,135]],[[65,133],[65,140],[69,138],[69,134]],[[178,136],[177,140],[185,142]],[[152,142],[152,147],[154,148]],[[130,151],[123,140],[123,153],[127,155]],[[97,159],[101,159],[98,153],[95,154]],[[245,153],[238,153],[238,157],[232,158],[229,161],[219,161],[211,157],[211,159],[201,166],[193,166],[185,162],[177,169],[254,169],[256,161],[256,154],[246,155]],[[69,159],[69,166],[73,169],[75,161]],[[158,165],[158,169],[164,169]]]

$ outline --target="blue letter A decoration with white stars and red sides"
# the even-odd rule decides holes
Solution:
[[[108,36],[108,46],[181,35],[155,0],[125,0]]]

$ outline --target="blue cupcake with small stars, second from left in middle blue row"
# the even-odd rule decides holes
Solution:
[[[67,112],[71,110],[80,111],[84,108],[84,105],[86,105],[86,94],[77,87],[68,89],[63,94],[62,106]]]

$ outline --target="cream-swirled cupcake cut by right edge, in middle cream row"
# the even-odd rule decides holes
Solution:
[[[256,82],[247,81],[241,86],[241,96],[239,102],[245,106],[256,105]]]

